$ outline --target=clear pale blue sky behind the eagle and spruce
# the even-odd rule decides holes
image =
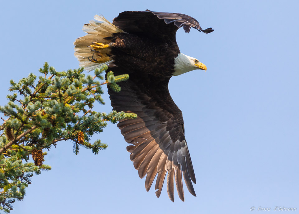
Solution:
[[[195,17],[204,34],[180,29],[181,52],[206,64],[170,80],[183,112],[197,197],[185,187],[171,202],[163,187],[145,191],[116,125],[93,138],[109,147],[99,155],[59,142],[45,157],[49,172],[33,177],[12,213],[257,213],[250,207],[297,207],[299,213],[298,1],[3,1],[0,105],[9,80],[45,61],[57,71],[78,68],[73,42],[102,14],[126,10],[179,12]],[[107,93],[106,105],[112,107]],[[273,212],[273,211],[271,211]],[[283,212],[279,212],[283,213]]]

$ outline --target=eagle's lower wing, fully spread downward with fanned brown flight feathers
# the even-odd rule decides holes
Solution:
[[[111,68],[120,74],[121,68]],[[121,91],[108,90],[113,110],[134,112],[137,119],[118,123],[127,150],[140,178],[146,174],[145,188],[150,190],[157,176],[155,189],[160,196],[167,175],[167,192],[174,201],[174,181],[178,195],[184,201],[182,172],[189,192],[195,195],[191,180],[196,183],[190,154],[184,135],[183,116],[168,92],[169,78],[157,79],[148,74],[130,73],[129,80],[118,83]]]

